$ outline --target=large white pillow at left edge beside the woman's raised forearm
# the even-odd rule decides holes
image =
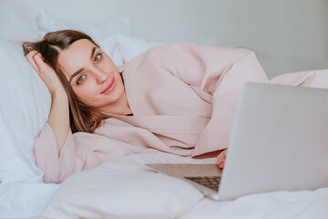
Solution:
[[[46,124],[50,93],[21,47],[0,38],[0,60],[0,181],[41,181],[34,137]]]

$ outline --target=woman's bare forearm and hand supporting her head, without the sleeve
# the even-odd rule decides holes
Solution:
[[[69,132],[69,110],[67,93],[62,86],[53,68],[49,67],[42,59],[41,54],[32,51],[26,59],[36,70],[38,76],[44,81],[52,97],[51,110],[48,123],[55,132],[58,155],[67,140]]]

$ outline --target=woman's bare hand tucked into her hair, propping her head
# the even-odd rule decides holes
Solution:
[[[31,51],[26,55],[26,59],[36,70],[38,76],[46,84],[51,96],[54,96],[56,91],[64,90],[64,87],[56,75],[55,70],[46,64],[40,53],[36,50]]]

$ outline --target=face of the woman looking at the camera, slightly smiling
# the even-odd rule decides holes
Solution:
[[[77,99],[100,111],[110,112],[125,94],[118,69],[99,47],[87,39],[74,42],[58,57]]]

